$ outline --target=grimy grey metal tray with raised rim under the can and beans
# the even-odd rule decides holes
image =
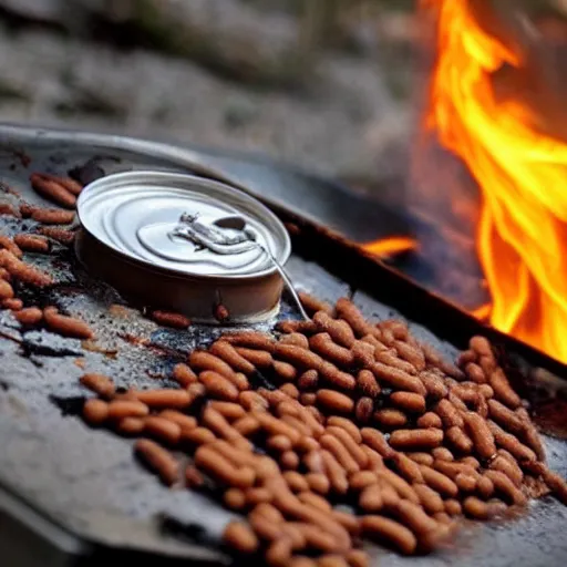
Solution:
[[[374,216],[349,217],[346,207],[351,200],[354,210],[369,207],[338,185],[275,164],[245,162],[241,156],[125,137],[0,126],[0,181],[27,200],[45,204],[29,187],[31,172],[64,174],[76,166],[83,166],[84,175],[132,168],[193,172],[251,187],[248,190],[282,220],[296,225],[288,269],[298,287],[328,300],[350,295],[369,316],[406,318],[415,334],[450,358],[471,334],[483,331],[465,312],[352,244],[352,239],[367,239],[361,238],[364,219],[374,226],[377,217],[382,219],[383,236],[390,234],[389,217],[378,205],[373,205]],[[298,187],[306,197],[308,192],[305,205],[298,199]],[[0,230],[10,234],[22,221],[1,217],[0,223]],[[23,223],[31,227],[31,220]],[[375,228],[372,233],[371,238],[380,236]],[[0,312],[2,565],[95,566],[142,558],[161,567],[187,560],[228,564],[218,536],[230,513],[206,496],[164,488],[133,460],[131,441],[91,430],[76,416],[84,394],[78,384],[84,372],[79,364],[107,372],[122,385],[167,383],[173,364],[219,331],[198,326],[188,331],[159,329],[85,274],[66,249],[28,259],[56,280],[47,293],[27,291],[29,299],[80,313],[99,341],[84,350],[79,341],[45,332],[22,334],[13,319]],[[281,317],[292,315],[285,303]],[[549,464],[566,475],[565,367],[514,339],[486,331],[511,365],[522,369],[515,374],[516,385],[534,403],[544,431],[554,434],[545,437]],[[150,339],[150,344],[141,344],[140,338]],[[455,561],[559,566],[567,559],[566,520],[567,508],[544,498],[517,519],[465,526],[452,548],[427,557],[402,558],[378,547],[371,554],[377,564],[392,566]]]

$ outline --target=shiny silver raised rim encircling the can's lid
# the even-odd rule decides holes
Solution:
[[[278,254],[276,255],[276,259],[280,265],[285,265],[287,260],[289,259],[291,255],[291,239],[289,237],[288,231],[286,230],[286,227],[284,226],[284,223],[260,200],[257,198],[250,196],[248,193],[246,193],[245,189],[241,189],[239,187],[235,187],[233,185],[229,185],[228,183],[223,183],[219,181],[208,179],[206,177],[199,177],[192,174],[182,174],[182,173],[169,173],[169,172],[162,172],[162,171],[153,171],[153,169],[136,169],[134,172],[122,172],[122,173],[115,173],[111,175],[106,175],[104,177],[101,177],[100,179],[96,179],[83,188],[81,194],[78,197],[76,200],[76,216],[79,218],[79,221],[81,223],[81,227],[86,230],[93,238],[99,240],[103,246],[109,247],[114,252],[120,254],[122,257],[130,261],[142,264],[151,269],[164,271],[167,274],[175,274],[176,276],[181,278],[198,278],[198,279],[206,279],[206,280],[241,280],[241,279],[256,279],[261,278],[265,276],[270,276],[277,271],[276,266],[271,266],[270,268],[265,268],[259,271],[255,271],[251,274],[190,274],[187,271],[178,270],[175,268],[163,268],[152,261],[148,261],[144,258],[136,258],[128,254],[126,254],[124,250],[117,248],[112,243],[103,241],[96,234],[89,228],[89,223],[84,221],[84,216],[81,215],[81,207],[83,205],[83,202],[87,198],[87,189],[91,188],[97,188],[100,185],[106,185],[109,182],[112,184],[112,182],[123,182],[127,181],[130,178],[140,181],[140,177],[143,176],[152,176],[152,179],[156,184],[161,184],[163,182],[164,188],[167,188],[167,183],[190,183],[193,186],[197,186],[200,188],[212,188],[216,189],[220,193],[226,193],[231,195],[233,197],[236,195],[240,202],[244,202],[245,204],[248,204],[258,210],[258,213],[261,215],[260,220],[266,225],[266,227],[269,230],[272,230],[271,227],[275,227],[277,231],[279,231],[279,235],[276,235],[276,237],[279,240],[282,241],[284,246],[281,249],[278,249]],[[83,212],[84,213],[84,212]]]

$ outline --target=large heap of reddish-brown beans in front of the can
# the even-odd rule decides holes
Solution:
[[[429,553],[464,516],[491,519],[532,494],[567,502],[486,339],[452,364],[402,321],[302,300],[312,320],[192,352],[176,389],[118,393],[85,374],[96,396],[84,419],[140,437],[136,455],[166,485],[241,512],[227,548],[276,567],[364,566],[363,538]]]

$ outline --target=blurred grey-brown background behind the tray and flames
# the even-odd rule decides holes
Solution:
[[[424,84],[415,3],[0,0],[0,120],[260,151],[388,200]],[[567,1],[524,3],[565,38]]]

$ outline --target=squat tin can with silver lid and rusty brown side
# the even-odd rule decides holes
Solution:
[[[82,264],[125,298],[216,322],[223,305],[235,323],[279,310],[276,260],[291,252],[281,221],[240,189],[185,174],[130,172],[87,185],[78,199]]]

